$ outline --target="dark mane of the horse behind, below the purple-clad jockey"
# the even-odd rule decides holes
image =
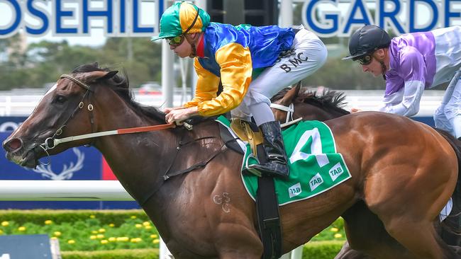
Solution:
[[[282,89],[270,100],[272,102],[280,100],[290,89],[289,87]],[[332,109],[344,115],[349,114],[347,110],[343,109],[345,105],[345,94],[343,92],[324,89],[319,93],[318,91],[309,91],[307,88],[302,87],[299,90],[298,96],[296,96],[296,100],[315,105],[318,108]]]

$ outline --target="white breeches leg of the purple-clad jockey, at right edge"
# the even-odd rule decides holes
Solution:
[[[457,71],[445,91],[439,108],[435,110],[435,127],[450,132],[455,137],[461,137],[461,70]]]

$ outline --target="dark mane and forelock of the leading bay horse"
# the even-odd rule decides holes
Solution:
[[[74,71],[72,74],[86,73],[91,71],[111,71],[109,68],[101,68],[98,63],[94,64],[83,64]],[[162,113],[155,107],[142,105],[138,102],[135,102],[133,92],[131,91],[130,84],[128,81],[128,76],[125,71],[123,71],[123,76],[116,74],[111,79],[105,81],[106,86],[111,88],[114,92],[118,94],[123,100],[128,103],[131,108],[140,115],[145,115],[147,117],[153,117],[160,121],[165,121],[165,113]]]

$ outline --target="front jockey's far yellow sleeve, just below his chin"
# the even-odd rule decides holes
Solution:
[[[194,59],[194,67],[198,79],[194,99],[183,105],[187,108],[198,106],[199,103],[215,98],[216,92],[218,92],[219,77],[201,67],[199,59],[197,58]]]

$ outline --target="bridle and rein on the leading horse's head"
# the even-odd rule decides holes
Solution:
[[[82,135],[77,135],[77,136],[72,136],[72,137],[65,137],[62,139],[56,139],[57,136],[62,134],[62,128],[66,127],[67,122],[69,122],[72,117],[79,111],[82,110],[84,107],[84,99],[88,96],[88,99],[90,99],[90,94],[94,93],[94,91],[91,89],[91,87],[88,84],[85,84],[84,82],[80,81],[79,79],[76,79],[74,76],[68,75],[68,74],[63,74],[60,76],[60,79],[70,79],[73,81],[75,84],[78,86],[87,89],[87,91],[84,93],[82,100],[80,100],[79,105],[74,109],[72,114],[65,120],[64,123],[62,123],[61,127],[57,128],[56,132],[52,135],[52,137],[48,137],[45,139],[45,142],[40,144],[39,146],[48,154],[49,149],[54,149],[55,146],[58,144],[62,144],[65,142],[72,142],[80,139],[91,139],[94,137],[102,137],[102,136],[109,136],[109,135],[115,135],[115,134],[130,134],[130,133],[138,133],[138,132],[149,132],[149,131],[154,131],[154,130],[160,130],[160,129],[170,129],[176,127],[174,123],[168,123],[168,124],[163,124],[163,125],[154,125],[154,126],[146,126],[146,127],[132,127],[132,128],[126,128],[126,129],[114,129],[114,130],[108,130],[105,132],[94,132],[94,115],[93,115],[93,110],[94,107],[91,103],[87,105],[87,109],[89,110],[89,121],[91,123],[91,133],[89,134],[82,134]],[[186,127],[188,125],[185,125]],[[190,126],[189,126],[190,127]],[[189,127],[187,127],[189,129]]]

